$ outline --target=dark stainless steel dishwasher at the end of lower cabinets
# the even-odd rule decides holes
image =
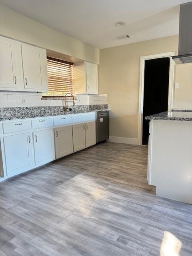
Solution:
[[[96,112],[96,142],[99,143],[109,138],[109,111]]]

